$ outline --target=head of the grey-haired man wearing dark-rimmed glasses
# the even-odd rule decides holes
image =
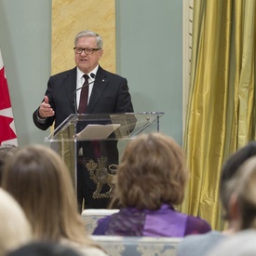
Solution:
[[[74,61],[85,74],[90,73],[98,64],[103,54],[101,35],[92,31],[81,31],[74,38]]]

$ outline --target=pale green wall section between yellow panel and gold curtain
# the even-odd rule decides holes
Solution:
[[[117,0],[116,34],[135,112],[165,112],[160,131],[182,144],[182,0]]]

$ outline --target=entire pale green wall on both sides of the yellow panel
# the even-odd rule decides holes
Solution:
[[[0,1],[0,47],[20,146],[45,143],[49,134],[34,127],[32,114],[47,88],[50,36],[50,0]],[[135,112],[165,112],[160,131],[182,144],[182,1],[116,0],[116,52]]]

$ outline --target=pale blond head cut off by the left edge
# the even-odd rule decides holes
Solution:
[[[20,205],[0,188],[0,255],[32,240],[32,229]]]

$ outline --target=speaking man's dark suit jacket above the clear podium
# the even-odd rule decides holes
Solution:
[[[46,130],[55,121],[57,128],[69,115],[74,114],[75,89],[76,67],[51,76],[47,83],[46,95],[55,115],[47,117],[45,124],[40,124],[37,121],[38,109],[35,110],[35,126]],[[86,114],[90,113],[133,113],[127,79],[107,72],[99,66],[86,111]]]

